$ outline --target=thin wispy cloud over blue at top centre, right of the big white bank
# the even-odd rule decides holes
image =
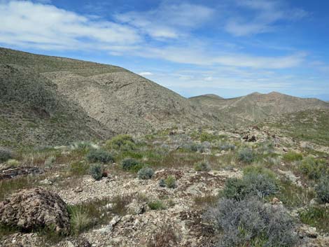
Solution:
[[[195,29],[207,22],[214,10],[190,3],[165,4],[145,12],[128,12],[116,15],[120,22],[137,27],[153,38],[178,38],[184,29]]]

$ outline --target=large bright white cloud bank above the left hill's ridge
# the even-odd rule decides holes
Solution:
[[[6,44],[66,50],[141,41],[131,27],[92,20],[42,3],[2,2],[0,16],[0,42]]]

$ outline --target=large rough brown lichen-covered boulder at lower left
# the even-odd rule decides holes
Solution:
[[[21,190],[0,202],[0,223],[27,232],[48,228],[65,234],[70,228],[65,202],[41,188]]]

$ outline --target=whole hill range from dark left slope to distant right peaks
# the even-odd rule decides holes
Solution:
[[[0,48],[2,144],[67,143],[172,127],[236,127],[329,108],[318,99],[253,93],[186,99],[127,69]]]

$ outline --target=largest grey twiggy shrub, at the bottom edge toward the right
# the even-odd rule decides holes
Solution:
[[[297,241],[295,225],[286,210],[255,198],[221,199],[205,216],[222,233],[218,247],[288,247]]]

